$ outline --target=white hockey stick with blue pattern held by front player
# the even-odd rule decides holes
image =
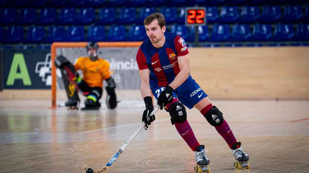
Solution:
[[[154,115],[159,110],[159,105],[155,107],[155,109],[150,113],[150,115]],[[138,129],[125,141],[125,143],[120,147],[120,149],[116,152],[116,154],[106,163],[106,165],[99,170],[93,170],[94,173],[102,173],[106,172],[109,167],[112,166],[112,164],[118,159],[119,155],[125,151],[125,149],[128,147],[128,145],[131,143],[131,141],[138,135],[138,133],[144,128],[146,125],[145,122],[142,122],[141,125],[138,126]],[[83,166],[83,170],[87,171],[89,167],[85,164]]]

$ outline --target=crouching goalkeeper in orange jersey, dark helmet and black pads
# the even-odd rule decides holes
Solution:
[[[115,94],[115,82],[109,72],[109,63],[101,58],[98,58],[97,50],[99,46],[96,42],[88,42],[86,49],[88,57],[79,57],[72,68],[72,64],[62,55],[56,57],[55,64],[61,70],[71,69],[75,77],[72,78],[83,91],[83,94],[87,96],[85,100],[85,109],[98,109],[101,105],[99,99],[102,96],[103,80],[106,80],[107,97],[106,105],[109,109],[114,109],[117,106],[116,94]],[[71,66],[71,68],[63,68],[63,66]],[[61,68],[62,67],[62,68]],[[83,71],[83,78],[79,77],[77,70]],[[67,107],[76,107],[79,98],[76,91],[74,97],[70,97],[68,94]]]

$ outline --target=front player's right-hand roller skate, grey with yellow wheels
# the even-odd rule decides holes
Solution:
[[[248,162],[249,156],[243,151],[240,147],[241,143],[233,144],[231,151],[232,155],[235,157],[236,161],[234,161],[234,167],[236,169],[249,169],[250,163]]]

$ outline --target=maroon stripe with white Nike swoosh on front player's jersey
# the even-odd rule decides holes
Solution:
[[[166,86],[168,84],[167,78],[161,66],[158,52],[151,57],[151,66],[157,76],[158,86]]]

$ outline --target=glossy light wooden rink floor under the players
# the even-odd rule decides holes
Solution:
[[[250,156],[251,169],[235,170],[225,141],[197,110],[188,121],[208,147],[211,172],[309,172],[309,101],[213,101]],[[141,123],[143,104],[113,111],[50,109],[50,101],[0,100],[0,172],[83,172],[99,169]],[[165,111],[158,111],[108,172],[193,172],[193,151]]]

